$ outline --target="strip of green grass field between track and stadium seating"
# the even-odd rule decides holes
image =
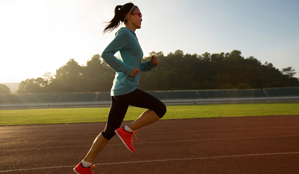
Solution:
[[[125,121],[146,109],[129,107]],[[0,110],[0,126],[107,121],[109,107]],[[299,115],[299,102],[168,105],[162,119]]]

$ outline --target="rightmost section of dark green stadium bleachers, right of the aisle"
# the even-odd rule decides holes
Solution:
[[[299,96],[299,87],[293,88],[265,88],[270,97]]]

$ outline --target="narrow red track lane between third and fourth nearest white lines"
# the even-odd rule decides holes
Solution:
[[[154,123],[155,124],[155,123]],[[143,127],[140,130],[142,133],[161,133],[161,132],[175,132],[175,131],[184,131],[188,129],[189,131],[192,130],[225,130],[225,129],[251,129],[251,128],[266,128],[264,125],[267,125],[267,127],[292,127],[292,126],[299,126],[299,121],[290,121],[290,122],[270,122],[270,123],[258,123],[258,124],[209,124],[209,125],[183,125],[181,126],[172,126],[172,127]],[[80,125],[80,124],[78,124]],[[126,125],[126,124],[123,124]],[[42,125],[36,125],[36,127],[42,127]],[[77,126],[80,128],[79,126]],[[56,131],[57,129],[54,128],[47,128],[46,131],[42,130],[36,130],[32,132],[31,129],[29,131],[22,130],[21,132],[16,132],[14,130],[10,131],[3,131],[0,135],[0,143],[1,141],[5,140],[19,140],[19,139],[25,139],[25,138],[50,138],[50,137],[75,137],[75,136],[92,136],[92,135],[98,135],[103,129],[105,125],[101,129],[95,129],[94,127],[87,127],[86,130],[81,129],[75,129],[75,128],[68,128],[65,127],[63,129],[60,129],[59,131]],[[1,128],[1,127],[0,127]],[[16,126],[13,126],[13,128],[16,129]],[[44,128],[42,128],[44,129]],[[13,132],[14,131],[14,132]],[[140,133],[139,133],[140,134]],[[46,136],[45,136],[46,135]]]

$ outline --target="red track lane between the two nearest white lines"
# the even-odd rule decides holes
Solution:
[[[246,138],[225,140],[203,140],[203,141],[180,141],[135,144],[138,154],[129,153],[122,145],[110,145],[100,153],[94,163],[124,162],[136,160],[161,160],[176,158],[201,158],[209,156],[246,155],[253,153],[287,153],[297,152],[299,136],[294,137],[269,137],[269,138]],[[274,147],[273,147],[274,146]],[[271,147],[271,149],[269,149]],[[146,149],[146,151],[144,150]],[[8,170],[8,166],[19,168],[48,167],[49,161],[58,162],[56,166],[71,165],[80,161],[89,147],[68,147],[60,149],[25,150],[21,153],[13,151],[1,152],[1,156],[12,161],[23,161],[19,166],[14,162],[8,162],[1,170]],[[154,152],[154,153],[153,153]],[[36,156],[39,163],[34,162]],[[75,160],[76,159],[76,160]],[[105,159],[104,161],[102,159]],[[11,163],[11,164],[9,164]]]

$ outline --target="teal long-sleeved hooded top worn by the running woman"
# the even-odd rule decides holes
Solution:
[[[119,59],[114,56],[118,51]],[[126,27],[120,28],[115,33],[115,38],[103,51],[102,58],[116,72],[111,96],[124,95],[137,89],[139,73],[131,77],[133,67],[141,72],[155,67],[150,61],[141,63],[143,52],[136,34]]]

